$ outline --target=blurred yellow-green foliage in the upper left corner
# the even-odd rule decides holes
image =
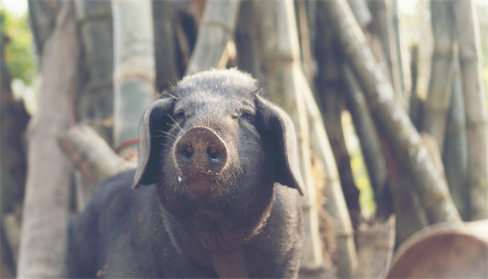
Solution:
[[[15,17],[0,9],[0,32],[5,42],[5,59],[14,79],[31,84],[36,75],[36,60],[33,38],[29,28],[29,15]]]

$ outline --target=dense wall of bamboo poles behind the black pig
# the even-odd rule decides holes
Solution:
[[[381,276],[393,250],[420,229],[488,218],[475,3],[430,1],[426,98],[417,91],[422,45],[402,59],[397,5],[29,0],[42,83],[27,128],[2,65],[1,276],[66,277],[66,224],[98,183],[134,166],[144,107],[208,68],[251,73],[293,119],[307,188],[303,276]],[[370,220],[361,214],[344,112],[374,193]],[[388,231],[379,236],[389,248],[377,255],[376,270],[366,268],[374,255],[361,241],[361,225],[372,223]]]

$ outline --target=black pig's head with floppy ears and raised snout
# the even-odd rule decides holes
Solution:
[[[185,77],[144,112],[134,186],[177,216],[262,211],[275,182],[303,195],[293,124],[259,91],[238,70]]]

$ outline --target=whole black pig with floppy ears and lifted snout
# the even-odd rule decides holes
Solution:
[[[295,278],[296,135],[259,91],[250,75],[210,70],[151,103],[137,169],[108,179],[70,226],[70,276]]]

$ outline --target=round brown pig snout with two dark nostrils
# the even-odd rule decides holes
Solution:
[[[195,127],[176,142],[174,156],[183,179],[194,181],[218,176],[227,163],[228,152],[224,141],[213,130]]]

